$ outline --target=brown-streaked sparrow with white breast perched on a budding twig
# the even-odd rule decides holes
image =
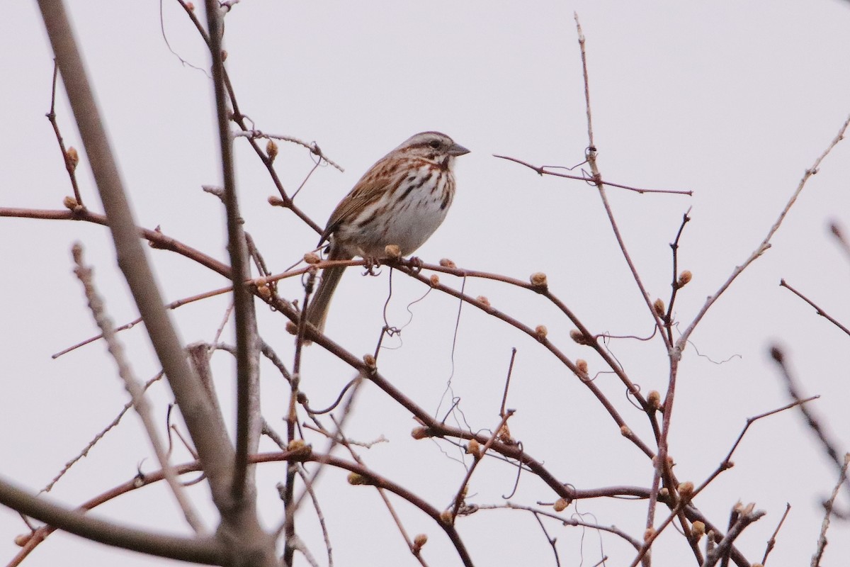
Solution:
[[[402,256],[428,240],[443,222],[455,196],[452,167],[469,153],[444,133],[422,132],[405,140],[367,171],[331,213],[319,246],[331,242],[329,260],[354,256],[386,258],[394,244]],[[307,308],[307,320],[319,331],[345,267],[326,268]]]

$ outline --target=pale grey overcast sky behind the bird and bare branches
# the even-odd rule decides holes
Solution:
[[[68,4],[139,224],[161,226],[167,235],[226,258],[220,203],[201,192],[202,184],[220,183],[212,89],[203,71],[178,58],[208,65],[194,27],[168,2],[162,17],[156,2]],[[521,280],[544,271],[553,292],[594,332],[643,337],[651,333],[652,320],[597,192],[578,181],[541,178],[492,156],[563,166],[583,159],[587,122],[574,11],[587,36],[604,178],[694,191],[688,197],[609,190],[626,246],[653,298],[669,297],[669,243],[690,209],[693,220],[683,234],[679,266],[691,270],[694,279],[680,292],[676,310],[677,320],[687,325],[767,234],[802,173],[850,113],[850,4],[243,0],[226,17],[227,65],[241,110],[257,128],[316,141],[344,167],[344,173],[320,167],[297,197],[319,224],[377,158],[412,133],[443,131],[472,152],[457,160],[457,195],[445,224],[417,255],[429,263],[451,258],[464,268]],[[8,3],[0,19],[0,48],[0,207],[62,208],[71,187],[44,117],[53,62],[35,3]],[[83,198],[100,211],[61,89],[57,113],[65,143],[81,150]],[[258,241],[269,268],[283,271],[314,247],[314,232],[269,207],[266,199],[275,187],[268,173],[244,139],[237,139],[235,147],[246,230]],[[282,144],[280,149],[277,171],[292,191],[313,163],[299,146]],[[850,263],[830,237],[827,226],[833,220],[850,233],[847,142],[825,160],[773,247],[711,309],[684,353],[671,434],[680,480],[699,484],[722,460],[746,417],[787,403],[768,360],[774,342],[786,347],[805,394],[821,395],[813,410],[840,449],[847,450],[850,337],[779,287],[785,278],[850,324]],[[46,485],[127,400],[102,344],[50,358],[96,334],[71,274],[73,241],[86,247],[113,318],[119,324],[132,320],[137,313],[105,229],[0,218],[0,474],[32,490]],[[150,257],[168,301],[226,285],[218,275],[169,252],[151,250]],[[374,349],[388,290],[388,271],[378,278],[358,274],[351,269],[343,278],[326,327],[355,354]],[[462,285],[448,276],[441,280]],[[410,317],[408,304],[426,289],[398,274],[393,285],[388,313],[401,326]],[[287,298],[298,298],[300,290],[298,281],[280,288]],[[592,374],[604,370],[589,349],[570,341],[569,321],[540,298],[475,280],[467,281],[465,290],[487,296],[530,326],[545,324],[571,359],[587,359]],[[179,309],[174,315],[185,342],[212,341],[226,306],[224,298],[216,298]],[[517,347],[508,406],[517,410],[511,430],[526,451],[578,488],[649,485],[647,459],[621,438],[587,388],[535,341],[469,306],[462,309],[456,329],[456,301],[436,292],[410,309],[404,340],[382,352],[381,364],[416,403],[433,411],[442,403],[445,411],[450,382],[469,426],[494,427],[510,349]],[[292,340],[285,321],[260,311],[263,337],[288,364]],[[139,326],[122,338],[137,374],[147,379],[157,366],[143,332]],[[666,353],[660,341],[615,340],[610,349],[644,392],[664,391]],[[229,400],[232,360],[226,356],[217,354],[215,363],[219,391]],[[348,368],[318,347],[308,352],[305,365],[305,389],[315,405],[333,400],[351,377]],[[275,371],[263,371],[263,413],[282,428],[285,388]],[[598,385],[638,434],[650,439],[645,418],[633,410],[621,385],[609,374],[598,377]],[[170,401],[166,390],[151,388],[160,417]],[[367,464],[434,506],[448,507],[465,472],[454,460],[459,455],[448,445],[410,439],[416,423],[390,401],[365,386],[348,434],[360,440],[386,436],[388,444],[362,451]],[[127,416],[52,494],[69,505],[83,502],[131,478],[143,460],[143,470],[155,469],[149,454],[138,420]],[[176,458],[188,457],[183,452]],[[738,541],[756,562],[790,502],[791,514],[770,563],[808,564],[822,519],[819,501],[828,495],[836,473],[801,417],[788,411],[757,422],[734,462],[697,505],[723,526],[739,499],[765,510],[767,515]],[[515,469],[487,464],[473,476],[468,502],[501,503],[501,496],[511,492]],[[283,470],[280,465],[260,468],[259,497],[269,525],[280,520],[274,485]],[[348,487],[340,473],[327,473],[322,483],[320,498],[337,564],[363,564],[364,558],[370,564],[415,563],[373,491]],[[170,500],[160,497],[164,494],[161,486],[139,490],[99,513],[186,533]],[[202,486],[190,494],[209,509]],[[512,502],[553,499],[529,475]],[[592,514],[582,517],[617,524],[640,537],[645,509],[645,502],[588,501],[565,513]],[[411,534],[430,536],[429,564],[459,564],[430,519],[403,504],[399,510]],[[298,525],[313,553],[323,558],[309,508]],[[554,564],[552,548],[530,515],[481,511],[458,527],[476,564]],[[577,528],[551,524],[547,529],[558,537],[562,564],[583,559],[592,565],[601,558],[595,532],[584,534],[581,547]],[[842,564],[850,557],[847,524],[836,523],[832,530],[825,564]],[[23,531],[17,514],[0,509],[0,562],[16,553],[12,538]],[[693,560],[680,539],[675,532],[661,538],[656,564]],[[386,559],[376,558],[377,546]],[[609,564],[628,564],[633,557],[612,536],[603,536],[602,549]],[[27,561],[51,565],[69,558],[87,564],[163,563],[62,535],[51,536]]]

